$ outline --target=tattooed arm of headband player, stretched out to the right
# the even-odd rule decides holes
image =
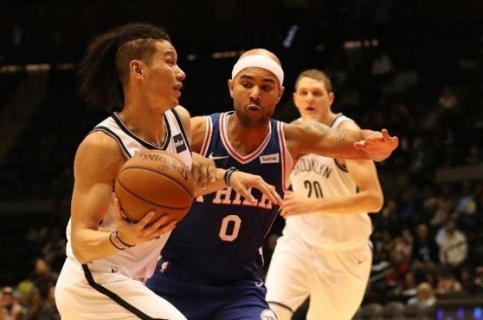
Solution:
[[[299,122],[286,124],[287,147],[295,159],[305,154],[345,159],[383,161],[399,145],[397,137],[387,130],[331,129],[322,123]]]

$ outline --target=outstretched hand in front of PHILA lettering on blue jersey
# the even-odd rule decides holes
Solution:
[[[235,171],[230,175],[230,185],[239,194],[256,203],[257,199],[250,193],[250,188],[256,188],[262,192],[272,203],[282,205],[282,197],[279,196],[275,187],[266,183],[262,177],[242,171]]]

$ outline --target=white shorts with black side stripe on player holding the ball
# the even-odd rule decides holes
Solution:
[[[62,320],[186,320],[141,281],[109,270],[91,272],[70,258],[59,274],[55,302]]]

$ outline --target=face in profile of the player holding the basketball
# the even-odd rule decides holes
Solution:
[[[177,65],[175,48],[168,41],[157,41],[151,63],[144,68],[144,83],[151,106],[164,110],[177,106],[186,74]]]

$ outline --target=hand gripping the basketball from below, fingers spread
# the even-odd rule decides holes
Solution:
[[[119,199],[115,200],[115,207],[117,234],[130,246],[151,241],[176,227],[177,221],[170,219],[168,215],[155,218],[155,211],[148,212],[143,219],[132,223],[123,216]]]

